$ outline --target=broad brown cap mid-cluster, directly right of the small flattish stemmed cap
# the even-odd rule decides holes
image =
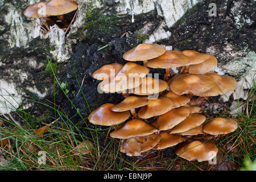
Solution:
[[[143,119],[152,118],[156,115],[162,115],[174,108],[174,102],[168,97],[159,97],[155,100],[148,100],[150,104],[141,107],[138,116]]]

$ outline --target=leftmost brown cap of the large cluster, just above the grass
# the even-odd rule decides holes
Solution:
[[[129,111],[115,113],[112,111],[114,104],[104,104],[90,113],[88,120],[93,125],[112,126],[126,121],[130,117]]]

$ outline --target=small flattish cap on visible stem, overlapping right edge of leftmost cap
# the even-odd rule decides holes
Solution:
[[[111,110],[115,112],[122,112],[126,110],[135,109],[138,107],[146,106],[149,104],[147,100],[148,100],[147,97],[129,96],[129,97],[126,97],[125,100],[123,100],[119,104],[112,107]]]

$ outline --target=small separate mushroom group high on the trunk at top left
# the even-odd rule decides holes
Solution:
[[[77,10],[76,0],[49,0],[28,6],[26,10],[24,10],[23,14],[27,18],[40,18],[44,26],[41,26],[44,32],[49,31],[49,26],[46,21],[51,24],[57,24],[60,27],[64,27],[63,30],[67,31],[73,23],[73,19],[77,15],[77,12],[71,22],[64,18],[64,14],[71,13],[75,10]],[[52,19],[51,16],[57,16],[58,20]],[[41,18],[46,21],[43,21]]]

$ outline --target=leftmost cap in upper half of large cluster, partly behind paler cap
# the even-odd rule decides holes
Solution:
[[[119,63],[106,64],[100,69],[97,69],[95,72],[93,72],[92,77],[97,80],[104,80],[106,76],[110,78],[111,72],[113,72],[113,76],[117,75],[122,67],[123,65]]]

